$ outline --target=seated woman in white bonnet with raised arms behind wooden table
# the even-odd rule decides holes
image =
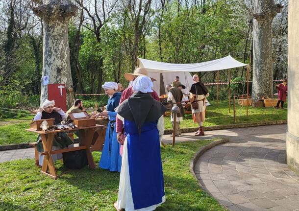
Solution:
[[[54,124],[60,125],[61,121],[66,119],[66,114],[64,113],[64,111],[62,111],[61,108],[54,107],[54,105],[54,100],[50,101],[46,99],[42,104],[42,108],[39,108],[39,111],[37,112],[33,120],[54,118]],[[44,149],[40,136],[38,136],[37,142],[37,150],[39,152],[39,164],[42,165],[44,156],[41,155],[41,153],[44,151]],[[74,147],[74,142],[66,133],[57,133],[53,141],[52,150],[68,147]],[[62,159],[62,157],[63,156],[61,153],[52,155],[53,161]]]

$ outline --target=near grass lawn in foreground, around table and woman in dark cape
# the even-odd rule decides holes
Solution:
[[[199,188],[190,161],[208,141],[161,149],[166,202],[157,211],[225,211]],[[94,152],[99,163],[100,152]],[[0,211],[114,211],[119,173],[85,167],[66,169],[56,162],[58,180],[42,175],[31,159],[0,164]]]

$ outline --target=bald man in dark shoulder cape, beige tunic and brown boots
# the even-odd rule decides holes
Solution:
[[[193,121],[199,124],[199,130],[195,132],[195,135],[204,136],[202,125],[205,119],[205,98],[209,96],[209,93],[203,83],[199,81],[198,75],[193,75],[193,80],[195,83],[191,86],[189,98],[192,106]]]

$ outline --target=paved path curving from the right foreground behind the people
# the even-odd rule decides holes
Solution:
[[[225,137],[196,164],[203,188],[233,211],[299,211],[299,175],[285,164],[286,125],[183,134],[176,142]],[[163,141],[172,142],[165,135]],[[0,151],[0,162],[34,158],[33,148]]]

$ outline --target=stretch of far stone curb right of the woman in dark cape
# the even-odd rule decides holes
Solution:
[[[287,120],[277,120],[277,121],[263,121],[263,122],[253,122],[253,123],[242,123],[242,124],[228,124],[228,125],[217,125],[217,126],[208,126],[203,127],[204,131],[211,130],[224,130],[224,129],[233,129],[233,128],[243,128],[243,127],[257,127],[257,126],[266,126],[266,125],[277,125],[277,124],[287,124]],[[193,133],[197,131],[198,127],[182,128],[181,133]],[[172,134],[173,130],[165,130],[164,135]]]

